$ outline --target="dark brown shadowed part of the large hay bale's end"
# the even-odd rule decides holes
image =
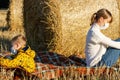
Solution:
[[[34,5],[29,5],[28,0],[24,0],[25,32],[28,44],[36,51],[49,50],[48,44],[54,36],[49,28],[50,25],[47,24],[46,15],[49,14],[50,9],[44,2],[37,0]],[[44,11],[43,7],[46,7]]]

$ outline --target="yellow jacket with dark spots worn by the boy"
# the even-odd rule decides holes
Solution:
[[[12,60],[0,58],[0,65],[8,68],[23,68],[27,72],[31,73],[35,70],[35,51],[31,50],[28,47],[27,50],[20,49],[18,50],[18,54]]]

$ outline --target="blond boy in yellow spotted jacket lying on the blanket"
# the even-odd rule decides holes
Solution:
[[[31,73],[35,70],[35,51],[26,45],[26,38],[22,35],[15,36],[12,40],[12,48],[17,51],[14,59],[0,58],[0,65],[8,68],[21,67]]]

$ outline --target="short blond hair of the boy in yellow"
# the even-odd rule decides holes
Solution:
[[[23,35],[17,35],[15,37],[12,38],[11,43],[17,42],[22,44],[23,46],[26,45],[26,38]]]

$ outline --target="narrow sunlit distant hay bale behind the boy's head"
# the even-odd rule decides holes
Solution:
[[[12,35],[24,33],[23,4],[24,0],[10,0],[9,6],[9,26]]]

